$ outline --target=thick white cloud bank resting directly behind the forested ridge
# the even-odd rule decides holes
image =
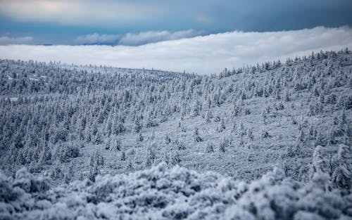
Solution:
[[[352,48],[350,27],[315,27],[281,32],[226,32],[142,46],[0,46],[0,58],[210,74],[224,67],[285,60],[346,46]]]

